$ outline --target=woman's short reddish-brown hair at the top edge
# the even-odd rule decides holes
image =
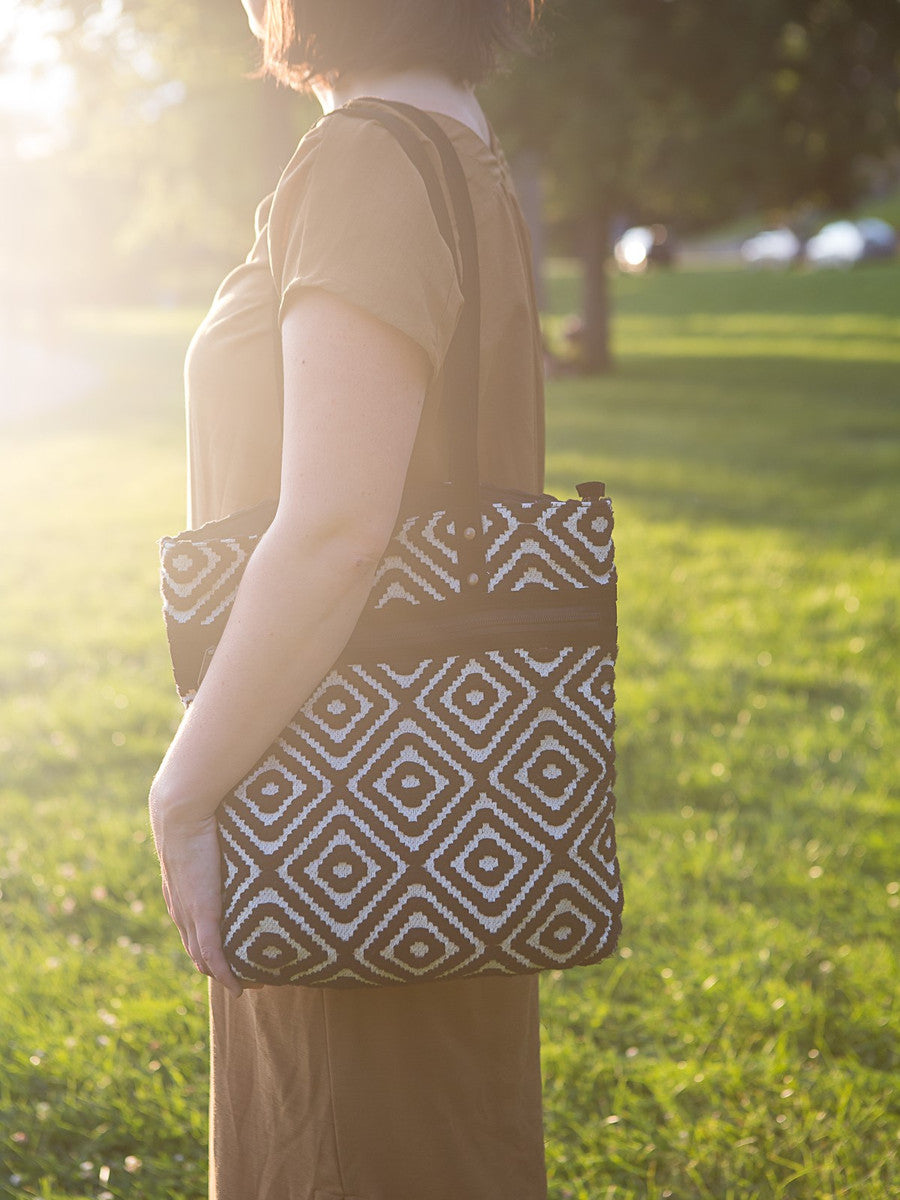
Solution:
[[[434,66],[479,83],[541,0],[269,0],[263,71],[306,91],[353,71]]]

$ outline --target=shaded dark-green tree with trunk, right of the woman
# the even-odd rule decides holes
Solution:
[[[583,259],[588,370],[611,365],[617,226],[845,209],[900,145],[898,0],[548,0],[542,23],[490,100]]]

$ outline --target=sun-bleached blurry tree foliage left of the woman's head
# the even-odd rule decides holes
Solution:
[[[312,106],[252,78],[258,48],[236,0],[22,7],[38,13],[71,86],[49,130],[43,113],[42,137],[26,110],[0,124],[4,257],[17,264],[4,292],[13,283],[42,316],[67,301],[208,299],[250,247],[253,210]],[[0,41],[0,68],[12,43]],[[48,66],[30,73],[38,95]]]

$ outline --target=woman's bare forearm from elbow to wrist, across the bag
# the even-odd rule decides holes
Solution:
[[[365,547],[348,532],[298,534],[277,522],[263,538],[151,804],[209,816],[271,745],[353,632],[377,563]]]

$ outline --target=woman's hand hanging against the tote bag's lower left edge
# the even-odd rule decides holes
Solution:
[[[238,983],[222,950],[222,876],[215,815],[197,817],[150,793],[150,823],[162,868],[162,894],[181,942],[200,974],[233,996]]]

